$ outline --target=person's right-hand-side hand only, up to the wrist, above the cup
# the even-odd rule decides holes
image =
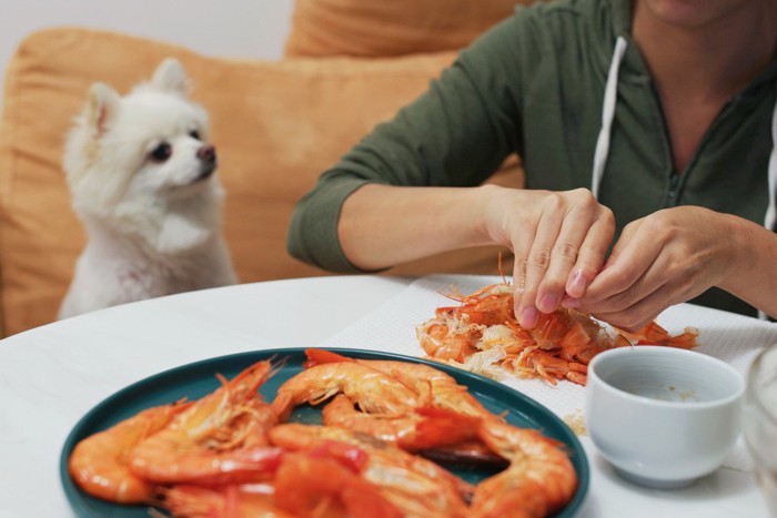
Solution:
[[[729,215],[698,206],[658,211],[626,225],[585,295],[564,305],[638,329],[665,308],[724,284],[741,255],[738,237]]]

